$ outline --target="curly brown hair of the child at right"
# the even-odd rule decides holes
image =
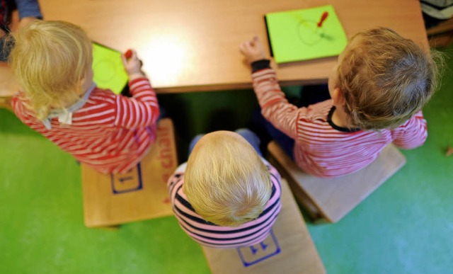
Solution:
[[[437,87],[441,62],[389,28],[357,33],[338,64],[336,87],[350,124],[362,130],[398,127],[427,103]],[[437,59],[437,61],[435,61]]]

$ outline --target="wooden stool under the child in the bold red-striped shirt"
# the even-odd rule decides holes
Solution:
[[[178,164],[171,119],[159,121],[151,151],[127,174],[103,174],[81,164],[87,227],[173,215],[167,180]]]

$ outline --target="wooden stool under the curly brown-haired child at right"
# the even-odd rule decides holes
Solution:
[[[406,164],[403,154],[389,144],[360,171],[338,178],[319,178],[299,169],[275,141],[268,144],[268,152],[270,163],[287,178],[292,193],[309,215],[328,222],[338,222]]]

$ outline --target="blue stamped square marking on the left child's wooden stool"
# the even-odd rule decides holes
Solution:
[[[110,174],[113,194],[128,193],[142,190],[142,168],[140,163],[137,167],[125,174]]]

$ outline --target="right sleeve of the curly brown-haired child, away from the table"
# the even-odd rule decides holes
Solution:
[[[428,130],[421,110],[396,130],[392,130],[391,135],[394,144],[402,149],[414,149],[425,143]]]

